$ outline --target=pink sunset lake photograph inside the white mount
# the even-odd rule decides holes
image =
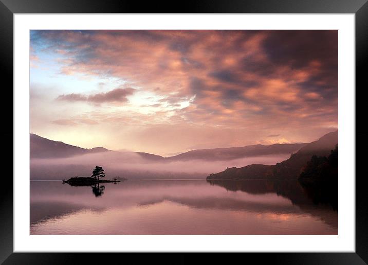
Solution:
[[[339,235],[338,37],[30,29],[29,235]]]

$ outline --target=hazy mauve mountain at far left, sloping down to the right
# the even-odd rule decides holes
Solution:
[[[85,149],[78,146],[64,144],[41,137],[31,133],[30,138],[30,157],[31,158],[61,158],[88,153],[100,153],[110,151],[103,147]]]

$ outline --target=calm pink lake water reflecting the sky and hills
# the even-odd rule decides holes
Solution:
[[[338,211],[297,182],[31,181],[31,235],[337,235]]]

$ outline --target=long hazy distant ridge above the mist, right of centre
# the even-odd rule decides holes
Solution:
[[[251,145],[244,147],[198,149],[175,156],[168,157],[170,161],[206,160],[226,161],[242,157],[262,156],[273,154],[291,154],[298,151],[306,144],[274,144],[274,145]]]

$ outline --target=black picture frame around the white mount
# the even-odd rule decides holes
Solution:
[[[2,76],[3,103],[0,104],[3,130],[0,131],[3,148],[6,148],[4,165],[13,165],[13,14],[14,13],[354,13],[356,38],[356,251],[355,253],[238,253],[231,259],[256,260],[257,263],[274,264],[366,264],[368,263],[368,200],[365,196],[363,174],[364,150],[368,150],[368,129],[358,118],[365,117],[363,100],[366,100],[368,75],[368,2],[367,0],[187,0],[183,2],[140,2],[98,0],[0,0],[0,75]],[[5,82],[4,82],[5,81]],[[10,100],[11,99],[11,100]],[[7,103],[4,103],[7,102]],[[4,129],[6,128],[6,129]],[[12,139],[12,140],[10,140]],[[9,169],[7,169],[9,170]],[[360,173],[359,173],[360,172]],[[7,175],[9,172],[7,172]],[[348,176],[345,176],[348,177]],[[147,259],[140,253],[13,253],[13,181],[2,178],[0,192],[0,263],[4,264],[75,264],[106,263],[110,260],[126,262],[132,257],[135,262]],[[240,257],[240,255],[242,255]],[[149,260],[159,260],[162,255],[149,254]],[[165,255],[170,263],[188,263],[196,254],[177,253]],[[218,253],[207,255],[212,260],[229,262],[228,257]],[[124,258],[124,259],[121,259]],[[119,262],[119,261],[118,261]],[[119,262],[119,263],[120,263]]]

